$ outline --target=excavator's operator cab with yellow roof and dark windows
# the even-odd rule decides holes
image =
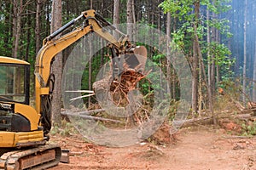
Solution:
[[[31,122],[18,105],[29,105],[29,68],[26,61],[0,57],[0,130],[7,132],[31,131]],[[15,112],[15,110],[17,112]],[[6,136],[3,136],[4,138]],[[5,138],[6,139],[6,138]],[[0,144],[1,140],[0,133]]]

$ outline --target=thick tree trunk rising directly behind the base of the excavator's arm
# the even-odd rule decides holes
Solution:
[[[52,2],[51,32],[61,27],[61,0]],[[55,55],[55,61],[52,65],[52,73],[55,75],[55,89],[52,99],[52,120],[56,125],[61,124],[61,73],[62,73],[62,52]]]

